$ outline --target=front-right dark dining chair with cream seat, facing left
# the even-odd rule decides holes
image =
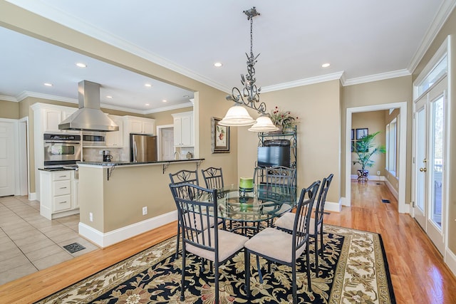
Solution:
[[[296,216],[291,234],[268,227],[259,231],[244,244],[247,256],[245,257],[246,293],[250,297],[250,253],[262,256],[266,260],[281,263],[291,267],[291,284],[293,303],[298,303],[296,287],[296,259],[306,252],[307,286],[311,287],[311,271],[309,265],[309,224],[312,206],[320,181],[316,181],[306,189],[301,190],[299,201],[296,204]],[[260,271],[260,269],[258,269]]]

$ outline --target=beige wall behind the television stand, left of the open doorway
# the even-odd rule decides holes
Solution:
[[[341,180],[339,80],[262,93],[261,101],[268,110],[279,106],[299,117],[296,157],[299,187],[308,187],[333,173],[328,201],[338,202]],[[254,112],[251,115],[257,117]],[[259,139],[257,133],[247,131],[247,127],[239,127],[238,132],[239,177],[252,177]]]

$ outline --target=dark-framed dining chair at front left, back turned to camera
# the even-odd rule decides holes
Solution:
[[[210,227],[209,219],[217,218],[217,189],[194,184],[170,184],[182,227],[182,281],[180,300],[185,300],[185,262],[188,253],[214,263],[215,302],[219,303],[219,266],[242,251],[247,236]],[[209,211],[212,214],[209,214]],[[195,224],[199,223],[199,224]],[[244,257],[247,256],[245,253]],[[247,259],[247,258],[246,258]],[[197,278],[195,278],[196,280]]]

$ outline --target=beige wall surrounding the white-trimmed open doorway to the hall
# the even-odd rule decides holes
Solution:
[[[412,138],[412,78],[411,76],[403,76],[398,78],[390,78],[385,80],[373,81],[371,83],[361,83],[358,85],[348,85],[342,88],[342,133],[345,137],[346,130],[346,111],[347,108],[364,107],[368,105],[382,105],[387,103],[403,103],[407,102],[407,138]],[[342,140],[342,159],[345,159],[346,143]],[[407,154],[407,164],[405,169],[405,203],[411,201],[411,159],[412,159],[412,141],[405,143]],[[341,164],[341,172],[345,172],[345,162]],[[345,179],[341,181],[342,196],[345,196]]]

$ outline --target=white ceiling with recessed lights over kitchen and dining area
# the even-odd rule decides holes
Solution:
[[[9,2],[226,92],[247,73],[250,23],[242,11],[256,6],[253,51],[261,53],[255,68],[265,92],[334,77],[351,84],[408,75],[456,0]],[[76,102],[80,80],[102,85],[103,105],[134,112],[187,105],[193,97],[6,28],[0,27],[0,41],[0,99],[51,95]]]

